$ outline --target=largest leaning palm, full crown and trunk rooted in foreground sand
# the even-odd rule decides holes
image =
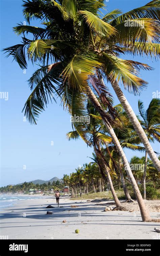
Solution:
[[[105,95],[108,90],[104,85],[103,75],[112,84],[116,83],[116,79],[118,82],[122,78],[125,88],[135,93],[146,84],[134,72],[141,67],[147,70],[151,68],[146,64],[122,60],[118,58],[118,55],[129,51],[148,52],[151,55],[158,52],[158,46],[155,43],[157,21],[151,19],[154,17],[157,20],[158,2],[152,1],[152,4],[148,4],[147,7],[121,15],[120,18],[116,18],[120,11],[114,10],[100,19],[98,11],[105,6],[103,1],[65,0],[58,3],[50,0],[45,2],[28,0],[23,4],[26,20],[30,22],[32,18],[40,19],[43,21],[44,28],[18,25],[14,31],[18,35],[30,32],[33,34],[33,40],[25,36],[22,38],[22,44],[5,49],[8,55],[14,56],[21,68],[27,67],[26,50],[27,56],[33,63],[37,61],[40,63],[40,68],[29,79],[32,93],[24,107],[25,115],[31,123],[36,123],[36,118],[44,110],[48,98],[54,99],[54,93],[62,98],[64,106],[72,110],[72,114],[76,114],[72,102],[73,93],[79,93],[81,102],[78,110],[83,108],[84,95],[89,97],[102,116],[123,164],[126,166],[143,220],[149,220],[150,216],[145,209],[124,151],[111,127],[111,116],[114,115],[112,106]],[[138,15],[142,18],[137,19]],[[145,15],[149,19],[144,18]],[[141,29],[138,26],[125,27],[123,20],[131,18],[136,24],[144,23],[144,26],[141,26]],[[149,42],[148,39],[150,39]],[[151,43],[152,41],[154,43]],[[50,65],[49,62],[51,62]],[[94,88],[93,90],[101,101],[107,104],[111,116],[102,108],[91,88]],[[118,96],[121,101],[120,95]],[[128,109],[126,113],[128,114]],[[136,127],[138,125],[140,124],[136,123]],[[144,136],[141,137],[144,143]],[[149,145],[144,144],[158,168],[157,158]]]

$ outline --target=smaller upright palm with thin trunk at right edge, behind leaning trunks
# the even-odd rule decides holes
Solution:
[[[148,109],[144,110],[143,102],[138,100],[139,114],[143,118],[141,125],[149,141],[160,142],[160,99],[152,99]],[[145,150],[145,163],[143,172],[143,199],[146,199],[145,177],[148,161],[148,152]]]

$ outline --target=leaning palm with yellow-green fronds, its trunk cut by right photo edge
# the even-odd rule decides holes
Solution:
[[[125,47],[125,49],[123,48],[124,53],[129,51],[133,55],[140,53],[140,54],[146,54],[146,55],[151,55],[156,57],[159,52],[159,45],[157,44],[157,42],[159,42],[158,31],[156,28],[159,20],[158,18],[159,7],[160,7],[160,1],[151,1],[145,6],[131,10],[118,17],[116,17],[116,15],[118,15],[118,10],[113,10],[110,14],[107,14],[103,18],[103,20],[108,22],[108,24],[116,28],[118,31],[117,36],[115,36],[113,39],[114,44],[116,43],[116,46],[120,48]],[[126,26],[126,24],[129,24],[129,23],[133,24],[133,22],[134,22],[133,26],[130,26],[130,25]],[[100,45],[100,48],[102,46],[103,44]],[[114,65],[116,68],[115,73],[117,71],[119,72],[119,67],[120,67],[119,65],[121,65],[121,61],[122,60],[117,60],[117,58],[115,58],[115,64],[112,63],[112,65]],[[135,66],[140,64],[133,61],[129,61],[129,62],[131,62]],[[128,87],[129,91],[131,91],[132,90],[131,88],[133,88],[133,91],[136,94],[139,88],[142,88],[142,86],[145,86],[146,83],[135,75],[132,77],[130,75],[128,76],[127,74],[128,70],[125,70],[125,69],[127,68],[130,70],[130,68],[127,67],[124,62],[123,64],[121,65],[121,68],[123,70],[122,72],[125,73],[125,75],[122,76],[122,79],[124,79],[123,83],[125,85],[125,88]],[[144,65],[141,66],[141,64],[139,68],[150,69],[147,66],[144,66]],[[155,164],[155,167],[160,171],[160,161],[156,157],[148,141],[148,138],[145,135],[145,132],[143,131],[140,123],[136,118],[135,113],[133,112],[125,95],[123,94],[121,88],[118,85],[120,76],[118,75],[118,80],[116,80],[117,74],[116,75],[113,74],[113,71],[110,71],[110,69],[107,70],[107,74],[109,74],[109,72],[112,72],[111,73],[112,77],[110,79],[111,85],[119,101],[124,107],[128,117],[130,118],[135,131],[140,137],[142,143],[144,144],[146,151],[148,152],[153,163]]]

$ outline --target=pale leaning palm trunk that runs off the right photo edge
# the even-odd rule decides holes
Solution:
[[[124,110],[126,111],[131,123],[133,124],[133,127],[134,127],[136,133],[138,134],[140,140],[142,141],[142,143],[146,149],[146,152],[149,154],[149,156],[150,156],[153,164],[157,168],[157,170],[160,171],[160,161],[158,160],[156,154],[154,153],[154,150],[151,147],[150,142],[149,142],[140,122],[138,121],[133,109],[131,108],[129,102],[127,101],[125,95],[123,94],[117,81],[111,83],[111,85],[112,85],[119,101],[121,102],[122,106],[124,107]]]

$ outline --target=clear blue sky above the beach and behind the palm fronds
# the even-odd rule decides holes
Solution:
[[[147,2],[149,1],[109,0],[106,1],[106,4],[108,11],[119,8],[126,12]],[[21,5],[22,0],[0,1],[0,49],[21,42],[21,38],[12,31],[12,27],[25,21]],[[31,25],[38,24],[37,21],[31,23]],[[87,147],[81,140],[75,142],[66,139],[66,133],[72,131],[72,127],[70,116],[63,111],[59,100],[57,100],[57,104],[53,102],[53,104],[48,105],[46,111],[41,114],[37,125],[30,125],[28,121],[24,121],[24,114],[21,111],[30,94],[26,81],[37,67],[29,64],[24,74],[19,65],[12,62],[12,57],[5,58],[5,54],[1,52],[0,58],[0,91],[8,92],[8,100],[0,99],[0,186],[35,179],[49,180],[54,176],[62,178],[63,173],[69,174],[78,165],[89,162],[87,156],[92,156],[92,148]],[[132,58],[131,56],[126,57],[126,59]],[[159,91],[159,63],[148,59],[148,57],[135,57],[134,60],[147,63],[154,68],[153,71],[141,72],[141,77],[149,84],[140,96],[134,96],[125,91],[133,110],[138,114],[138,99],[140,98],[144,102],[145,108],[147,108],[152,100],[153,92]],[[113,90],[110,91],[114,96],[114,103],[119,103]],[[52,141],[53,146],[51,146]],[[160,152],[157,142],[152,146],[156,152]],[[142,156],[142,154],[131,150],[125,152],[128,160],[134,155]]]

